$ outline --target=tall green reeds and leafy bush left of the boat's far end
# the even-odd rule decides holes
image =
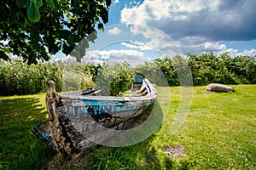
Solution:
[[[55,81],[57,92],[96,86],[102,89],[102,94],[118,96],[127,90],[134,79],[134,71],[126,62],[113,67],[83,65],[71,61],[38,65],[27,65],[21,61],[0,62],[0,88],[5,89],[0,95],[45,92],[45,82],[50,79]]]

